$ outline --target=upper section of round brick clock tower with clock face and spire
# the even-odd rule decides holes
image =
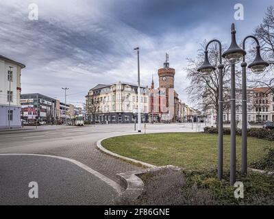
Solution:
[[[166,62],[164,68],[158,70],[159,88],[174,88],[175,69],[169,68],[169,55],[166,53]]]

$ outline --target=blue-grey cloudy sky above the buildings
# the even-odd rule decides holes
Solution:
[[[38,20],[29,19],[29,5],[38,6]],[[244,18],[236,21],[234,5],[242,3]],[[82,105],[98,83],[158,86],[158,68],[169,53],[175,68],[175,90],[189,103],[184,68],[197,57],[203,40],[230,44],[231,23],[237,40],[252,34],[273,0],[0,0],[0,54],[26,65],[22,93],[39,92]]]

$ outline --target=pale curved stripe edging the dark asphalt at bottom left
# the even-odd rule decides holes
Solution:
[[[95,177],[98,177],[105,183],[108,183],[118,194],[120,195],[123,192],[123,189],[121,188],[121,185],[118,183],[114,182],[112,179],[109,179],[108,177],[105,177],[104,175],[101,175],[100,172],[97,172],[96,170],[93,170],[92,168],[86,166],[85,164],[82,164],[81,162],[77,162],[75,159],[67,158],[67,157],[60,157],[60,156],[53,156],[53,155],[40,155],[40,154],[31,154],[31,153],[5,153],[5,154],[0,154],[0,156],[14,156],[14,155],[21,155],[21,156],[40,156],[40,157],[52,157],[56,159],[63,159],[68,162],[71,162],[80,168],[83,168],[84,170],[90,172],[92,175],[95,175]]]

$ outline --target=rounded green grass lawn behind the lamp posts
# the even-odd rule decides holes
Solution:
[[[191,170],[216,167],[217,135],[208,133],[152,133],[120,136],[103,140],[102,145],[114,153],[142,162],[164,166],[172,164]],[[230,136],[223,137],[224,169],[229,169]],[[248,138],[248,162],[256,162],[266,155],[274,142]],[[236,137],[236,162],[240,168],[241,137]]]

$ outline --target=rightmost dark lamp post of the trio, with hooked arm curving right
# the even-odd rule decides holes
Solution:
[[[267,66],[268,62],[262,60],[260,55],[260,43],[255,36],[247,36],[242,42],[242,49],[245,50],[245,42],[248,38],[252,38],[256,41],[256,57],[248,68],[251,68],[251,71],[255,74],[262,73]],[[245,55],[242,57],[242,166],[241,173],[242,175],[247,174],[247,62],[245,62]]]

